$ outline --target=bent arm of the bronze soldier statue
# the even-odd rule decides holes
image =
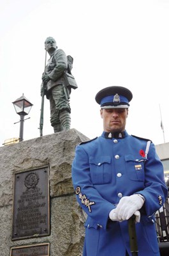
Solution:
[[[56,65],[48,76],[52,81],[57,81],[57,79],[59,79],[59,77],[61,77],[68,68],[68,60],[65,52],[61,49],[55,52],[54,58]]]

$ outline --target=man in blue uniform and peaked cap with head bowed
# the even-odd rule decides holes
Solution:
[[[131,256],[128,219],[133,214],[138,256],[159,256],[154,212],[165,202],[168,189],[152,141],[125,130],[132,97],[122,86],[99,91],[103,134],[76,148],[73,186],[88,216],[84,256]]]

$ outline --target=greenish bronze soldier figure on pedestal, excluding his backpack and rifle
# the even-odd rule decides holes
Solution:
[[[57,49],[55,39],[45,40],[45,50],[50,55],[45,73],[42,75],[41,90],[45,88],[50,100],[50,123],[54,132],[70,129],[70,90],[64,86],[64,72],[68,68],[68,60],[62,49]]]

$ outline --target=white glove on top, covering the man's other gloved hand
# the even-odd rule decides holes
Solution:
[[[138,216],[138,212],[136,211],[142,208],[143,203],[144,200],[136,194],[124,196],[119,201],[115,209],[115,214],[119,220],[128,220],[135,213],[135,215]]]

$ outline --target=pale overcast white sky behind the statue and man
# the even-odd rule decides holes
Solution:
[[[40,136],[40,84],[44,42],[74,58],[71,128],[89,138],[103,131],[96,93],[125,86],[133,93],[126,129],[155,144],[169,141],[168,0],[0,0],[1,131],[4,140],[19,136],[20,116],[13,102],[22,93],[33,103],[24,122],[24,140]],[[49,56],[47,56],[49,58]],[[161,107],[161,115],[159,106]],[[45,99],[43,135],[52,134]]]

